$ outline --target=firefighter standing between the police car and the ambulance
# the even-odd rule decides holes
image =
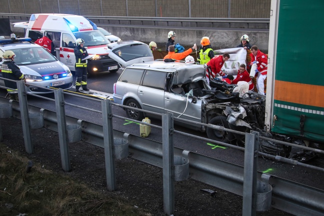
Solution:
[[[76,47],[74,48],[75,54],[75,91],[80,92],[80,86],[82,85],[82,90],[88,91],[89,89],[86,87],[86,77],[87,77],[87,67],[86,67],[86,60],[82,60],[89,54],[87,53],[86,49],[83,47],[84,40],[78,38],[76,40]]]

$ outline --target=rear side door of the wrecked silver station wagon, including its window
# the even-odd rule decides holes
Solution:
[[[164,88],[166,72],[146,70],[137,95],[142,108],[149,111],[164,113]]]

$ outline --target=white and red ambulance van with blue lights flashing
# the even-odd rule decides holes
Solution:
[[[107,44],[110,43],[89,19],[80,15],[60,13],[31,14],[28,22],[14,23],[14,27],[25,29],[25,37],[33,41],[47,35],[52,40],[51,53],[75,71],[74,48],[76,39],[82,38],[84,47],[92,57],[87,60],[88,74],[103,71],[116,72],[119,64],[109,57]]]

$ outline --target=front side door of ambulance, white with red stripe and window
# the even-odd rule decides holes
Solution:
[[[74,37],[69,33],[62,33],[61,44],[59,47],[59,60],[68,66],[70,70],[75,71],[74,48],[76,46]]]

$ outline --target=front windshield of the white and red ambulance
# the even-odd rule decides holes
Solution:
[[[74,36],[84,40],[84,46],[105,45],[110,43],[100,31],[83,31],[74,33]]]

